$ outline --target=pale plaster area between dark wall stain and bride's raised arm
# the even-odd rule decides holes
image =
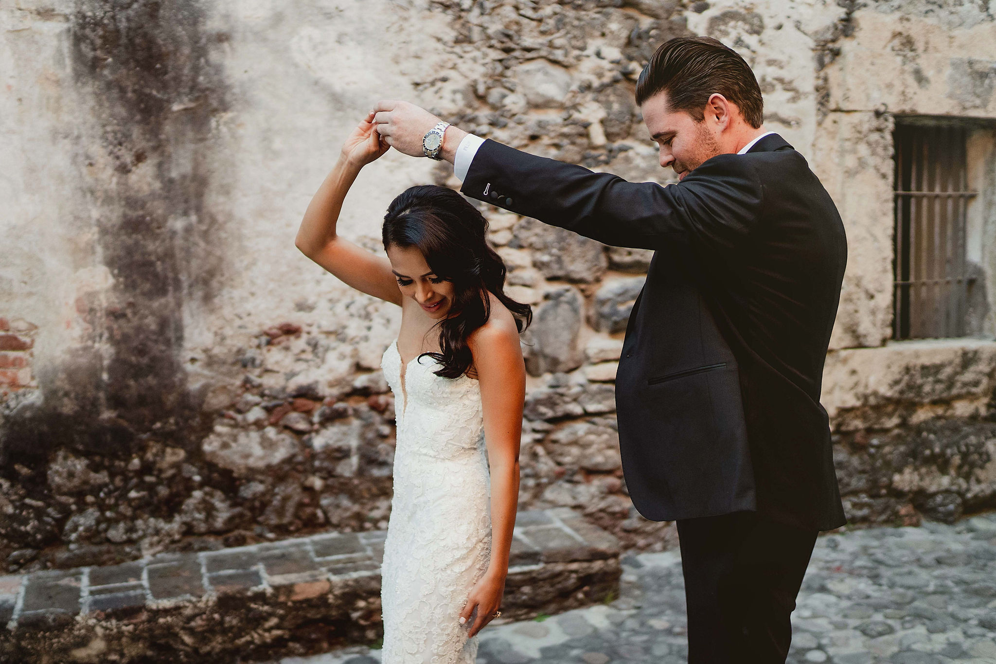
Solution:
[[[216,58],[233,99],[230,111],[216,118],[215,149],[238,158],[214,172],[208,195],[230,219],[227,241],[216,251],[232,267],[216,306],[191,317],[186,352],[188,361],[203,366],[192,373],[211,385],[214,404],[227,404],[243,377],[220,353],[241,352],[248,335],[275,322],[310,325],[342,346],[337,349],[346,356],[326,367],[327,382],[352,375],[354,361],[378,366],[396,328],[396,308],[357,294],[304,259],[293,237],[343,138],[378,99],[410,99],[439,112],[462,102],[466,83],[435,40],[408,27],[416,18],[419,30],[448,31],[444,17],[427,13],[424,3],[248,2],[213,16],[217,30],[231,33]],[[438,80],[441,72],[448,81]],[[426,161],[385,155],[358,179],[341,231],[367,238],[379,251],[389,201],[430,180]],[[359,310],[382,321],[365,326],[356,320]]]

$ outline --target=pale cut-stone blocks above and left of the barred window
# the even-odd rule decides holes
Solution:
[[[892,321],[890,115],[996,118],[996,21],[987,3],[855,3],[820,38],[817,174],[850,250],[831,347],[877,346]]]

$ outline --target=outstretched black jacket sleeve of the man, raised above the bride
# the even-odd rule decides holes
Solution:
[[[461,192],[605,244],[732,249],[761,214],[764,188],[748,159],[720,154],[677,184],[627,182],[487,140]]]

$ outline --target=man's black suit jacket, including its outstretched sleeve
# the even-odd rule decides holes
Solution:
[[[640,514],[846,523],[820,389],[847,241],[830,195],[781,136],[668,186],[487,140],[462,192],[654,250],[616,379],[622,470]]]

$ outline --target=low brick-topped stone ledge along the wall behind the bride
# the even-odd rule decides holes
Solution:
[[[0,662],[245,661],[381,632],[384,531],[0,576]],[[568,508],[520,512],[502,621],[619,590],[619,542]]]

